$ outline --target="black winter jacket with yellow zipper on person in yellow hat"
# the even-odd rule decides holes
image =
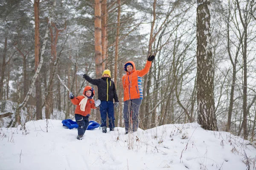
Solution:
[[[98,98],[101,101],[113,101],[113,99],[115,99],[115,102],[119,102],[116,94],[115,83],[110,77],[92,79],[87,74],[84,74],[83,77],[91,84],[98,86]]]

